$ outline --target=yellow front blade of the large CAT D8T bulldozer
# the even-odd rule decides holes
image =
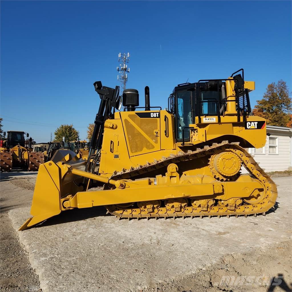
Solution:
[[[71,150],[59,150],[57,157],[59,161],[64,161],[72,168],[83,170],[85,161],[79,159]],[[74,180],[74,181],[73,181]],[[78,183],[81,178],[72,173],[64,173],[62,167],[54,161],[48,161],[39,166],[39,172],[34,187],[32,207],[30,213],[33,217],[27,219],[19,230],[25,230],[52,216],[61,213],[61,198],[67,194],[74,195],[83,190]]]

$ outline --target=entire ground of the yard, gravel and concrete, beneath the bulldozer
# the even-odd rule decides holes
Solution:
[[[266,216],[118,220],[93,207],[16,231],[35,180],[1,175],[4,291],[291,291],[291,177],[274,178],[276,211]]]

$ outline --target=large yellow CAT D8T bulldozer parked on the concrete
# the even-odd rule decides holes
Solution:
[[[139,93],[94,83],[100,105],[89,157],[60,150],[40,165],[32,217],[20,230],[74,208],[104,206],[118,218],[247,216],[274,206],[277,188],[246,151],[266,141],[251,112],[255,82],[227,78],[175,86],[168,108],[145,107]],[[124,106],[120,109],[121,102]],[[58,154],[58,155],[57,155]],[[246,174],[241,173],[245,169]]]

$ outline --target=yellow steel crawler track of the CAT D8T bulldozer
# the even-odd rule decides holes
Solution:
[[[263,214],[272,208],[277,199],[277,187],[273,180],[258,166],[256,161],[239,143],[229,143],[223,141],[220,144],[213,143],[212,146],[205,146],[204,149],[197,148],[196,151],[189,150],[188,152],[179,152],[178,155],[171,155],[170,157],[162,157],[160,160],[154,160],[152,163],[140,165],[136,168],[128,170],[123,169],[120,172],[114,172],[113,179],[135,179],[141,175],[147,174],[149,177],[151,173],[159,168],[175,163],[178,166],[184,161],[196,160],[202,157],[208,157],[211,161],[211,156],[218,152],[230,151],[236,154],[241,164],[248,170],[248,172],[265,186],[263,193],[259,194],[257,198],[239,199],[234,202],[226,204],[226,201],[220,201],[213,198],[190,200],[187,198],[179,198],[173,200],[156,200],[148,202],[131,203],[127,206],[110,205],[106,206],[109,213],[119,218],[159,218],[159,217],[203,217],[203,216],[227,216],[234,215],[254,215]],[[194,161],[194,165],[196,162]],[[211,169],[212,170],[212,169]],[[216,178],[216,175],[214,175]],[[217,178],[220,180],[220,178]],[[225,179],[222,179],[225,180]],[[233,204],[233,206],[231,206]]]

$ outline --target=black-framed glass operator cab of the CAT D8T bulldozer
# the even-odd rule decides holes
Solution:
[[[243,75],[243,69],[239,71]],[[229,79],[199,80],[196,83],[178,84],[174,88],[168,99],[168,109],[175,116],[175,137],[178,142],[190,141],[190,125],[201,124],[202,118],[216,117],[215,121],[220,123],[221,116],[226,114],[227,103],[233,102],[234,106],[235,102],[236,110],[232,115],[237,116],[238,122],[241,116],[245,121],[246,114],[251,115],[249,90],[244,88],[241,74],[233,77],[237,72]],[[233,100],[227,100],[226,95],[226,83],[230,81],[234,83]]]

